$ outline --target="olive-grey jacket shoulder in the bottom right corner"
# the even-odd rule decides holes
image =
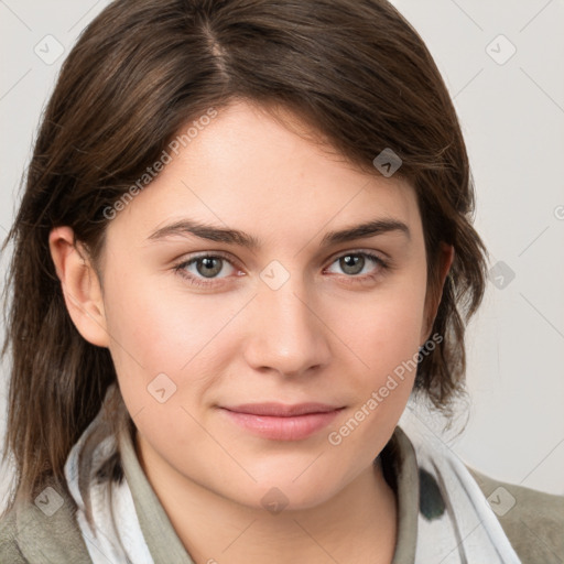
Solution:
[[[523,564],[564,561],[564,496],[500,481],[466,467]]]

